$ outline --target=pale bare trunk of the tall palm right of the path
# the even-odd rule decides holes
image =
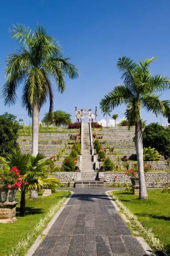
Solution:
[[[139,198],[141,200],[145,200],[145,199],[148,199],[148,196],[147,196],[147,189],[146,189],[144,169],[143,169],[143,137],[142,137],[141,120],[136,122],[136,125],[135,125],[135,142],[136,142],[137,161],[138,161]]]

